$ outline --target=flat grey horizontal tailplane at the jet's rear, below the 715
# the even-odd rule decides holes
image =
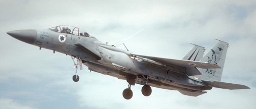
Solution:
[[[204,83],[209,84],[213,87],[216,88],[223,88],[223,89],[230,89],[230,90],[234,90],[234,89],[250,89],[249,87],[245,86],[245,85],[240,85],[240,84],[232,84],[232,83],[225,83],[225,82],[218,82],[218,81],[204,81],[202,80]]]

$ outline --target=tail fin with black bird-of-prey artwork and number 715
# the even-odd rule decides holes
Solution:
[[[217,40],[217,39],[216,39]],[[224,63],[229,47],[229,43],[218,40],[219,42],[204,56],[200,62],[215,63],[220,69],[198,69],[202,75],[199,77],[203,80],[220,81]]]

